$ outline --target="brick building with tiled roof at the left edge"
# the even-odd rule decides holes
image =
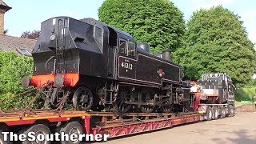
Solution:
[[[0,51],[14,51],[18,54],[31,56],[31,52],[37,42],[34,39],[18,38],[4,34],[5,14],[11,7],[0,0]]]

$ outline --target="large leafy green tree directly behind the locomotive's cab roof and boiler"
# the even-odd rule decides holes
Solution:
[[[98,16],[100,21],[130,33],[137,42],[148,42],[153,53],[182,46],[183,14],[169,0],[106,0]]]

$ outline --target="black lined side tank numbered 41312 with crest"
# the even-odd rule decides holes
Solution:
[[[180,83],[180,66],[168,60],[138,51],[135,57],[120,54],[118,78],[162,86],[162,82]]]

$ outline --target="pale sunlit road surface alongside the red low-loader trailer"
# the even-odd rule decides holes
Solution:
[[[102,143],[256,144],[256,112],[237,113],[232,118],[174,126],[166,130],[115,138]]]

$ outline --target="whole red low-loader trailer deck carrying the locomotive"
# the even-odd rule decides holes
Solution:
[[[79,120],[78,120],[79,119]],[[82,120],[82,121],[81,121]],[[98,120],[98,121],[95,121]],[[197,113],[127,113],[117,115],[113,112],[54,111],[54,110],[1,110],[0,126],[15,129],[15,126],[34,126],[46,123],[46,126],[58,122],[82,122],[84,134],[109,134],[116,138],[153,130],[161,130],[190,122],[202,120]],[[2,131],[6,131],[2,130]]]

